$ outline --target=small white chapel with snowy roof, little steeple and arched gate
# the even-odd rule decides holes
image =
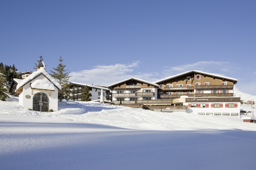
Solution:
[[[61,85],[48,74],[40,60],[37,70],[20,81],[16,87],[19,105],[34,111],[58,111],[58,92]]]

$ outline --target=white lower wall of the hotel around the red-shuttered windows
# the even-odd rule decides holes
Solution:
[[[237,104],[237,108],[225,108],[225,104],[227,103],[234,103]],[[230,116],[232,113],[238,113],[238,116],[240,116],[240,102],[211,102],[207,103],[209,104],[209,108],[187,108],[186,113],[193,113],[193,114],[198,114],[198,113],[230,113]],[[223,108],[211,108],[211,104],[223,104]],[[185,106],[188,106],[188,103],[184,103]]]

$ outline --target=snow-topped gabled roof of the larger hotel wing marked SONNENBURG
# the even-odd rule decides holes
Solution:
[[[193,73],[193,72],[195,74],[203,74],[203,75],[205,74],[205,75],[210,75],[210,76],[213,76],[213,77],[218,77],[218,78],[222,78],[222,79],[226,79],[226,80],[231,80],[231,81],[234,81],[234,84],[236,84],[238,82],[237,79],[234,79],[234,78],[231,78],[231,77],[226,77],[226,76],[222,76],[222,75],[219,75],[219,74],[207,73],[207,72],[198,71],[198,70],[191,70],[191,71],[187,71],[187,72],[183,72],[183,73],[180,73],[180,74],[176,74],[174,76],[170,76],[170,77],[167,77],[167,78],[164,78],[164,79],[161,79],[161,80],[157,80],[157,81],[155,81],[153,83],[160,83],[160,82],[163,82],[163,81],[175,78],[175,77],[179,77],[179,76],[184,75],[184,74]]]

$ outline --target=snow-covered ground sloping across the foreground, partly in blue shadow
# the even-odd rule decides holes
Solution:
[[[256,96],[241,93],[241,100]],[[253,106],[254,107],[254,106]],[[253,112],[251,105],[241,109]],[[253,169],[256,124],[97,102],[35,112],[0,101],[0,169]]]

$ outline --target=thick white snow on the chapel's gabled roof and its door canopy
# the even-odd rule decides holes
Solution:
[[[18,91],[19,88],[21,88],[24,85],[26,85],[27,83],[31,82],[32,80],[34,80],[36,77],[40,76],[41,74],[44,75],[54,86],[56,86],[59,90],[61,90],[61,85],[59,84],[59,82],[57,82],[52,76],[50,76],[50,74],[48,74],[46,72],[44,67],[41,67],[37,71],[35,71],[32,74],[30,74],[27,78],[25,78],[22,81],[20,81],[17,84],[16,91]],[[35,89],[47,89],[47,90],[48,90],[48,88],[52,89],[52,85],[51,84],[47,84],[44,81],[35,81],[35,82],[36,83],[32,83],[33,84],[33,88],[35,88]],[[50,85],[51,87],[46,87],[46,85]]]

